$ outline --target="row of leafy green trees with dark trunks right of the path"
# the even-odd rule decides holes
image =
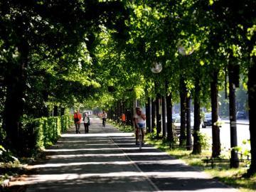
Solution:
[[[122,103],[132,100],[146,103],[147,124],[156,127],[170,141],[171,108],[181,102],[180,144],[191,148],[190,105],[194,105],[193,153],[201,152],[200,109],[210,103],[213,127],[212,156],[220,156],[220,124],[218,124],[218,90],[229,98],[231,167],[238,167],[236,136],[235,88],[242,81],[248,94],[252,164],[248,174],[255,172],[255,4],[253,1],[137,1],[127,3],[132,9],[127,25],[127,39],[115,47],[105,37],[98,50],[106,73],[106,86],[114,92],[102,92],[97,105],[116,108],[118,119]],[[112,33],[108,31],[107,33]],[[114,48],[114,49],[113,49]],[[151,73],[154,63],[163,71]],[[129,92],[131,87],[134,91]],[[105,97],[106,100],[102,100]],[[160,109],[159,101],[163,109]],[[149,107],[151,105],[151,107]],[[150,109],[151,108],[151,112]],[[161,114],[167,124],[161,124]],[[125,112],[125,110],[123,110]],[[127,115],[130,115],[127,113]],[[156,118],[156,124],[154,124]],[[166,127],[165,127],[166,126]],[[150,129],[150,127],[149,127]]]

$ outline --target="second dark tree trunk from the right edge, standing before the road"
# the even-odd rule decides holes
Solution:
[[[233,66],[229,65],[228,79],[229,79],[229,100],[230,100],[229,110],[230,110],[230,146],[231,146],[230,168],[239,167],[238,151],[234,149],[234,147],[238,146],[234,78],[235,77],[234,77]]]

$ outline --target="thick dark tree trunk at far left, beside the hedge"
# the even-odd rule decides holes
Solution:
[[[19,63],[11,63],[11,71],[6,75],[6,102],[3,112],[3,127],[6,131],[7,149],[14,152],[22,151],[22,143],[18,133],[18,127],[23,115],[25,90],[26,90],[26,66],[28,65],[28,43],[21,41],[18,45],[20,53]]]

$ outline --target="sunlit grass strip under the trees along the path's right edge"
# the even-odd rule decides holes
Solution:
[[[166,151],[169,155],[176,157],[176,159],[182,159],[191,166],[196,166],[197,169],[201,171],[206,171],[206,173],[217,178],[228,186],[233,186],[238,188],[242,192],[252,192],[256,191],[256,175],[251,178],[244,178],[242,174],[247,171],[247,166],[245,164],[240,164],[239,169],[230,169],[229,164],[215,164],[212,169],[210,166],[206,166],[201,159],[205,159],[206,156],[210,156],[210,151],[202,151],[200,155],[191,154],[191,151],[186,149],[170,149],[169,143],[163,141],[162,139],[153,139],[149,135],[146,136],[146,143],[156,146],[156,148],[161,151]]]

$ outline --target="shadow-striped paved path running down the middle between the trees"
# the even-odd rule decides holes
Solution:
[[[36,174],[13,185],[27,192],[235,191],[152,146],[140,152],[130,133],[91,122],[89,134],[63,134],[46,150],[46,163],[31,166]]]

